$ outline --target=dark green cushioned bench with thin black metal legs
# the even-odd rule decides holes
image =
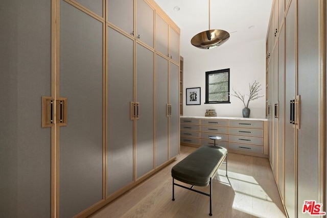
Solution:
[[[223,162],[226,159],[226,162]],[[185,157],[172,168],[173,177],[173,201],[174,186],[186,188],[202,195],[210,197],[210,212],[212,215],[212,178],[215,176],[219,166],[226,164],[226,177],[227,177],[227,150],[222,147],[216,146],[202,146],[195,150],[193,153]],[[175,183],[175,179],[192,185],[186,187],[181,184]],[[228,177],[227,177],[228,179]],[[229,179],[228,179],[229,182]],[[230,182],[229,182],[230,184]],[[210,185],[210,193],[205,193],[193,189],[194,186],[207,186]]]

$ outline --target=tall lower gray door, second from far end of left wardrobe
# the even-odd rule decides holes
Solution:
[[[156,166],[168,161],[168,60],[156,55]]]

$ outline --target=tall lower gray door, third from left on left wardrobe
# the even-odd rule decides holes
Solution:
[[[133,182],[133,44],[108,28],[108,195]]]

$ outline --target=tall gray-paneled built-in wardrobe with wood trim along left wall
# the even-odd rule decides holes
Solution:
[[[180,30],[153,0],[0,18],[0,217],[85,217],[179,154]]]

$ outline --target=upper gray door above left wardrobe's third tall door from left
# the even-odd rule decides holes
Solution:
[[[134,1],[108,0],[108,21],[128,34],[134,31]]]

